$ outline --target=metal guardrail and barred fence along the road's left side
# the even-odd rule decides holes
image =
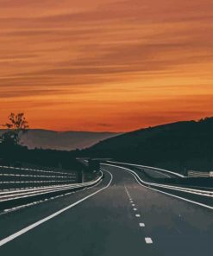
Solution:
[[[0,210],[19,208],[24,204],[91,187],[103,178],[102,172],[97,175],[93,176],[93,180],[81,182],[77,172],[0,166]]]

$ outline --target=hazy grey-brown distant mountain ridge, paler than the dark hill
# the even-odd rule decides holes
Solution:
[[[0,130],[0,135],[2,133],[3,130]],[[21,143],[28,146],[28,149],[76,150],[91,147],[103,139],[112,138],[116,135],[119,133],[32,129],[22,135]]]

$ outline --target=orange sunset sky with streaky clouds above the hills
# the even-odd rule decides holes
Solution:
[[[211,0],[0,0],[0,123],[130,131],[213,116]]]

